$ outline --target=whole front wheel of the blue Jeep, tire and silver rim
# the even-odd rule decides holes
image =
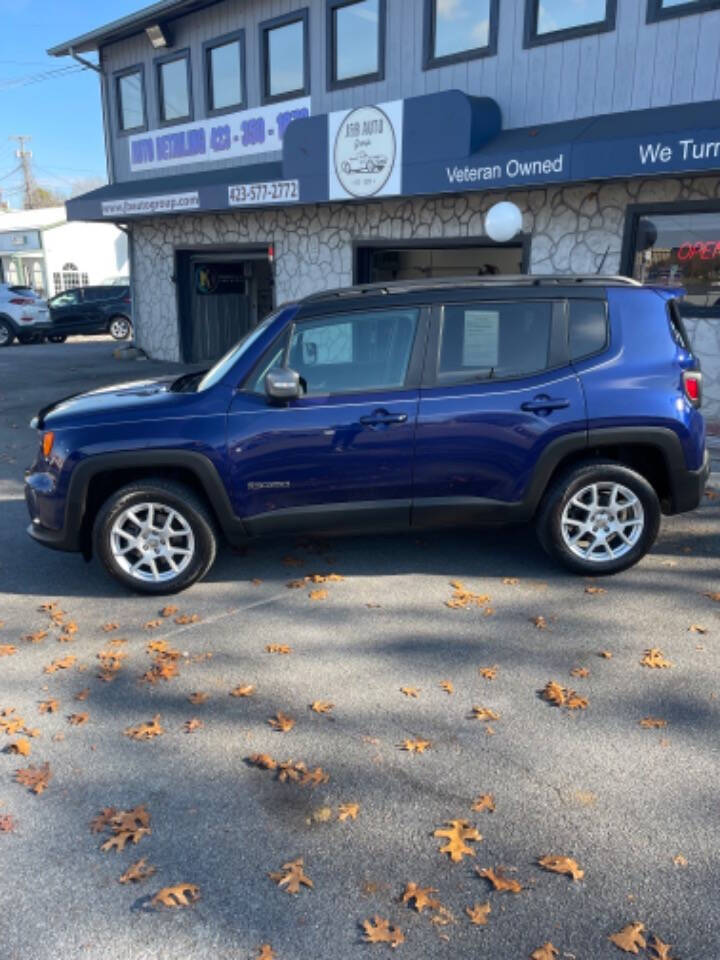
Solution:
[[[95,518],[95,551],[116,580],[138,593],[178,593],[215,560],[215,523],[182,484],[150,478],[116,491]]]

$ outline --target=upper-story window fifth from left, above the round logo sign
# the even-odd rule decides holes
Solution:
[[[328,89],[382,80],[385,0],[328,0]]]

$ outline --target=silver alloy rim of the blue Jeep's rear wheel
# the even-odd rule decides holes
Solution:
[[[619,560],[633,549],[645,529],[645,511],[623,484],[591,483],[567,502],[561,524],[570,552],[601,564]]]

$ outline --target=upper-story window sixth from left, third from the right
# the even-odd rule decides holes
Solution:
[[[499,0],[425,0],[425,69],[497,50]]]

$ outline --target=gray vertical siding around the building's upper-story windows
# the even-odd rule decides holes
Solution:
[[[720,10],[646,24],[647,0],[618,0],[613,32],[525,50],[525,0],[501,0],[496,56],[423,70],[425,0],[387,0],[385,79],[328,91],[326,0],[306,0],[304,5],[310,10],[310,95],[315,114],[457,88],[494,97],[504,126],[512,128],[720,98]],[[206,116],[203,42],[245,29],[248,106],[257,106],[258,24],[301,6],[302,0],[223,0],[173,21],[174,46],[191,50],[195,119]],[[144,64],[149,126],[157,128],[154,51],[145,35],[104,48],[102,59],[110,77],[124,67]],[[108,88],[115,179],[152,176],[130,174],[127,138],[117,133],[114,83]],[[270,158],[255,155],[250,162]],[[188,169],[202,170],[204,165],[179,166],[173,172]]]

